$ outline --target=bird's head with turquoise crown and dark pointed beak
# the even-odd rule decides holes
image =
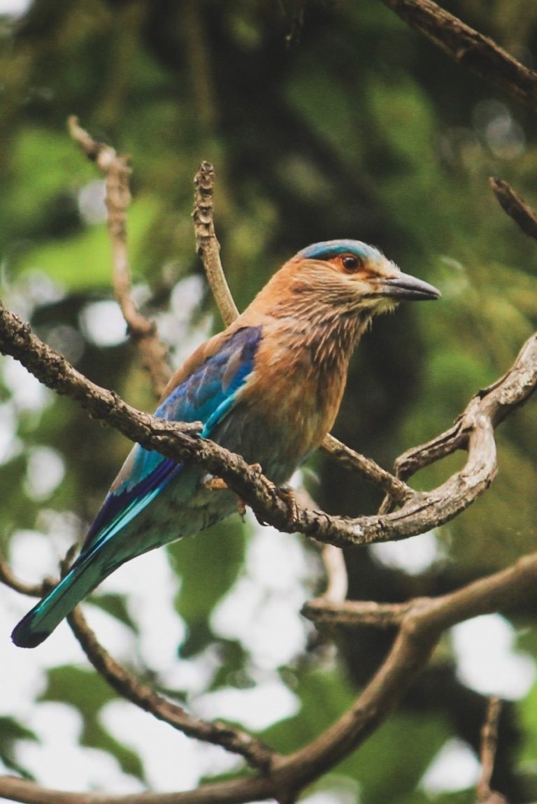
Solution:
[[[303,248],[286,264],[297,296],[313,291],[334,306],[391,310],[398,301],[440,298],[433,285],[402,273],[378,248],[359,240],[327,240]]]

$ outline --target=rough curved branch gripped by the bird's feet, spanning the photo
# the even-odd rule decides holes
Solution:
[[[281,531],[298,531],[338,547],[404,539],[448,522],[469,507],[494,479],[494,427],[523,404],[537,386],[537,334],[534,334],[506,375],[473,397],[455,429],[449,431],[453,434],[452,445],[468,447],[463,469],[436,489],[413,494],[398,511],[346,519],[298,505],[290,507],[289,501],[281,498],[255,466],[248,466],[242,457],[212,441],[193,436],[195,425],[155,419],[136,411],[116,393],[91,383],[1,302],[0,351],[20,360],[49,388],[68,394],[87,408],[91,416],[104,420],[132,441],[176,461],[199,463],[222,478],[264,522]],[[419,456],[419,450],[414,450],[414,464],[418,460],[416,455]]]

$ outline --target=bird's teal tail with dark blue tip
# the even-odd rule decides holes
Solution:
[[[103,572],[94,557],[92,550],[79,556],[59,584],[14,627],[11,639],[15,645],[21,648],[40,645],[76,604],[112,572],[113,568]]]

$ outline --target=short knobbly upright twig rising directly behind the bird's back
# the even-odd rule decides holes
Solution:
[[[213,221],[213,189],[215,186],[215,170],[211,162],[202,162],[194,178],[195,195],[194,231],[196,247],[203,261],[207,281],[211,286],[216,305],[226,326],[235,321],[239,315],[228,281],[220,262],[220,244],[215,234]]]

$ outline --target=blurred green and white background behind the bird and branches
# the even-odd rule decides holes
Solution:
[[[445,6],[535,67],[537,5]],[[192,178],[214,162],[223,263],[243,308],[283,260],[334,237],[371,242],[441,302],[379,319],[334,433],[383,466],[447,429],[535,329],[535,244],[490,175],[537,202],[535,115],[457,68],[379,0],[0,0],[2,299],[96,383],[154,400],[113,301],[104,187],[70,114],[132,157],[137,300],[179,363],[221,326],[195,256]],[[0,544],[23,580],[55,574],[129,445],[17,363],[0,362]],[[498,432],[500,473],[457,521],[346,555],[352,597],[445,593],[533,549],[535,403]],[[427,488],[453,457],[416,477]],[[298,478],[330,512],[379,494],[326,457]],[[391,634],[318,634],[318,551],[251,517],[133,561],[84,606],[99,638],[195,714],[287,751],[350,704]],[[0,768],[72,790],[183,790],[240,762],[121,701],[68,626],[35,651],[9,634],[31,601],[0,589]],[[506,699],[494,786],[537,798],[535,601],[447,634],[420,683],[308,804],[465,804],[486,695]],[[335,642],[333,642],[335,638]]]

